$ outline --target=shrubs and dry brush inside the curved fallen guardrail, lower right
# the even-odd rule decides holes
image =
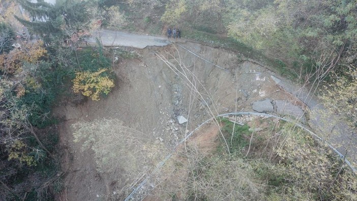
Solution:
[[[187,151],[167,165],[180,179],[160,185],[163,200],[357,198],[355,175],[342,168],[343,162],[331,149],[301,128],[259,117],[250,126],[219,121],[231,155],[222,146],[207,154],[199,145],[188,143]],[[254,128],[260,131],[253,132]]]

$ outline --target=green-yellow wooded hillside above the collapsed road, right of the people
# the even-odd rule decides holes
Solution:
[[[344,0],[197,0],[171,1],[161,19],[227,34],[283,61],[297,75],[316,78],[316,71],[336,69],[347,47],[355,43],[356,13],[355,1]]]

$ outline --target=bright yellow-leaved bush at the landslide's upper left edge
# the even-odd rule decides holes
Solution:
[[[107,69],[99,69],[97,72],[77,72],[73,79],[74,93],[81,93],[95,101],[100,100],[101,94],[108,95],[114,87],[114,81],[102,74],[106,71]]]

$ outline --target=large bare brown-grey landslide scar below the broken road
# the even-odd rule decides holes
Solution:
[[[133,190],[132,187],[155,168],[149,164],[156,161],[147,163],[145,161],[150,159],[147,157],[160,155],[162,158],[171,152],[188,131],[212,117],[208,108],[214,115],[251,111],[252,102],[265,98],[301,105],[277,87],[270,77],[271,71],[254,63],[240,62],[234,52],[191,42],[176,44],[227,70],[219,69],[175,44],[133,49],[140,54],[139,58],[118,60],[113,66],[117,75],[116,87],[108,97],[98,102],[89,100],[80,105],[67,104],[57,108],[57,115],[65,120],[58,126],[63,149],[62,169],[66,173],[64,191],[59,200],[123,200]],[[195,75],[194,80],[192,76],[188,77],[202,97],[185,78],[175,74],[157,58],[156,53],[167,55],[166,52],[176,58],[180,55],[180,62]],[[169,61],[176,64],[173,59]],[[176,119],[179,115],[188,122],[179,124]],[[143,133],[142,140],[150,142],[148,145],[165,147],[165,150],[146,149],[146,153],[138,153],[138,157],[146,157],[147,160],[138,163],[139,169],[140,165],[143,166],[141,175],[136,177],[123,174],[125,167],[122,165],[125,163],[120,162],[114,172],[101,173],[97,170],[94,152],[91,149],[83,151],[82,143],[73,142],[72,125],[103,119],[121,121],[123,126]],[[211,139],[216,133],[211,127],[204,128],[208,129],[201,129],[195,139],[202,149],[210,149],[215,146]],[[121,157],[121,153],[117,156]],[[152,190],[153,185],[147,184],[141,194],[145,189]]]

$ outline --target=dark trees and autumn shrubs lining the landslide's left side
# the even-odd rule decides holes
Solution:
[[[83,8],[91,5],[18,3],[32,21],[16,16],[16,7],[4,3],[15,15],[3,15],[0,22],[0,199],[48,200],[62,190],[63,176],[53,107],[84,101],[82,95],[99,100],[114,86],[115,77],[100,44],[79,48],[91,24]],[[31,38],[15,38],[18,27],[10,24],[14,17],[28,27]]]

